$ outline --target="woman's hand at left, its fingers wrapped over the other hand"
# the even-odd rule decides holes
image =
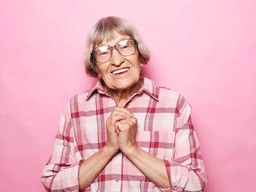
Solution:
[[[116,150],[119,150],[118,147],[118,134],[119,130],[116,130],[116,121],[125,120],[126,118],[131,118],[134,115],[124,107],[115,107],[111,115],[106,121],[107,127],[107,142],[106,147]]]

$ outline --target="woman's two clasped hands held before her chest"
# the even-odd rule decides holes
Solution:
[[[116,107],[106,121],[106,128],[107,147],[124,154],[136,149],[137,119],[128,109]]]

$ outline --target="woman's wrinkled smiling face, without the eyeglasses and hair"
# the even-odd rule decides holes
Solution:
[[[114,40],[111,42],[103,41],[100,45],[114,46],[117,42],[131,37],[119,34],[115,31]],[[111,59],[108,62],[97,63],[96,73],[105,82],[106,86],[113,90],[125,90],[136,84],[140,78],[140,67],[145,65],[139,60],[139,52],[129,56],[122,56],[116,49],[113,50]]]

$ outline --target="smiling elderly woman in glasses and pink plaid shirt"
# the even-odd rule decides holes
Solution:
[[[140,68],[150,53],[118,17],[88,35],[85,69],[99,80],[65,107],[41,180],[57,191],[203,191],[208,175],[184,97]]]

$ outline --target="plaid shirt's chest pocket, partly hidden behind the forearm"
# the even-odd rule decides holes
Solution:
[[[173,156],[173,146],[175,141],[175,132],[172,131],[137,131],[136,144],[145,152],[160,158],[171,161]],[[124,173],[128,179],[133,181],[139,179],[149,182],[148,178],[134,165],[134,163],[124,155]]]

